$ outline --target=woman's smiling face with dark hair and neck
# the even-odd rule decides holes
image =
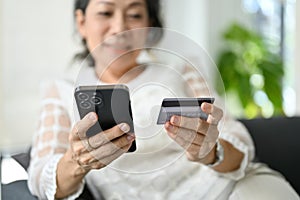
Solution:
[[[103,66],[106,66],[108,63],[103,63],[103,61],[111,61],[113,60],[113,57],[117,57],[134,48],[131,47],[131,49],[129,49],[129,45],[132,45],[132,43],[128,41],[126,34],[122,37],[118,37],[117,40],[116,38],[109,37],[130,29],[149,26],[162,27],[157,15],[159,12],[158,1],[136,0],[129,2],[124,1],[121,3],[105,0],[95,0],[90,3],[88,0],[77,1],[75,3],[76,23],[78,26],[78,32],[82,37],[82,43],[85,46],[85,50],[83,53],[77,54],[76,58],[86,58],[89,52],[92,52],[93,56],[88,57],[88,59],[90,59],[90,63],[93,65],[95,63],[94,60],[97,59],[98,65],[102,65],[102,67],[96,66],[97,73],[103,73],[103,78],[106,78],[111,76],[109,71],[112,71],[113,73],[118,72],[119,74],[114,75],[116,77],[110,77],[115,80],[118,79],[120,75],[124,74],[124,72],[130,70],[136,65],[135,60],[139,52],[132,51],[126,56],[123,56],[123,59],[116,60],[116,62],[114,62],[114,64],[107,68],[107,71],[104,72]],[[112,24],[114,25],[112,26]],[[137,36],[135,36],[135,38],[136,37]],[[109,40],[107,40],[108,38]],[[99,44],[101,44],[102,41],[104,41],[104,43],[101,47],[99,47]],[[122,42],[126,42],[127,44],[121,44]],[[94,50],[95,48],[97,48],[97,50]],[[99,56],[101,57],[99,58]],[[128,56],[131,56],[132,58],[129,58]],[[123,69],[119,68],[118,71],[113,69],[118,68],[120,64],[127,67],[123,67]],[[115,80],[106,79],[105,81],[111,82]]]

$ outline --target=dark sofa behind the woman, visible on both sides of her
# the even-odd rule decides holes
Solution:
[[[282,173],[300,194],[300,117],[240,120],[249,130],[256,146],[255,161],[264,162]],[[13,156],[25,169],[29,151]],[[26,180],[1,184],[2,200],[33,200]],[[93,199],[85,186],[79,200]]]

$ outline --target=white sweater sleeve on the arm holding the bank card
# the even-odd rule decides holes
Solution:
[[[183,72],[183,77],[186,81],[187,91],[192,96],[213,96],[215,97],[215,105],[220,107],[224,112],[224,117],[220,121],[218,129],[220,131],[219,138],[226,140],[232,144],[236,149],[244,154],[240,168],[229,172],[220,173],[233,180],[239,180],[245,176],[246,168],[250,161],[254,158],[254,144],[250,137],[248,130],[244,125],[233,118],[231,118],[226,111],[225,102],[221,97],[218,97],[212,87],[209,87],[209,81],[206,81],[204,76],[190,66],[186,66]]]

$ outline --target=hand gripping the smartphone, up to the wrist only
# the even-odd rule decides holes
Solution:
[[[129,134],[130,127],[126,123],[87,138],[87,130],[96,122],[96,113],[87,114],[74,126],[69,137],[72,157],[83,171],[108,165],[127,152],[135,139],[133,134]]]

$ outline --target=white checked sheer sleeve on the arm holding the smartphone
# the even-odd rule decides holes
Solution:
[[[59,160],[69,148],[70,117],[60,98],[56,82],[45,82],[42,87],[39,123],[33,138],[28,169],[28,187],[39,199],[55,199],[56,169]],[[66,199],[75,199],[83,190]]]

